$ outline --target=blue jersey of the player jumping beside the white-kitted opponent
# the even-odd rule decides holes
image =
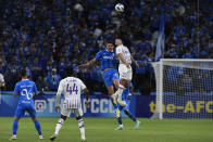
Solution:
[[[101,50],[97,53],[96,60],[99,60],[101,63],[101,70],[106,68],[117,68],[115,52],[109,52],[108,50]]]

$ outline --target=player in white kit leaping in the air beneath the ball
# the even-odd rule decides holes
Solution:
[[[115,39],[115,46],[117,46],[116,55],[120,59],[118,72],[120,72],[121,83],[120,83],[117,91],[113,94],[113,96],[118,95],[117,103],[121,106],[126,106],[126,102],[122,101],[122,94],[123,94],[123,91],[126,88],[128,88],[131,81],[131,78],[133,78],[133,69],[131,69],[130,64],[133,62],[137,67],[139,67],[139,65],[131,56],[128,48],[123,46],[122,39]]]

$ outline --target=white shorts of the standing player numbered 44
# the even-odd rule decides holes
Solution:
[[[70,117],[71,116],[71,113],[75,113],[75,117],[83,116],[82,105],[80,105],[79,108],[64,108],[62,106],[62,108],[61,108],[61,115],[66,116],[66,117]]]

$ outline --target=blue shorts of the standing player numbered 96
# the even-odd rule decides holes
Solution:
[[[32,103],[17,104],[17,108],[15,111],[15,117],[17,118],[24,117],[25,111],[30,115],[30,117],[36,117],[36,109],[34,104]]]

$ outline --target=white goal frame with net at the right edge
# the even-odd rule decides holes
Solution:
[[[152,118],[213,118],[213,60],[153,62],[156,98]]]

